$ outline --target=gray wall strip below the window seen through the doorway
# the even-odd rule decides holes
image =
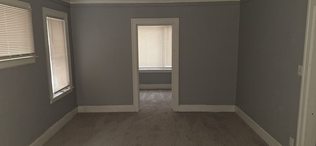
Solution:
[[[172,73],[139,73],[139,84],[171,84]]]

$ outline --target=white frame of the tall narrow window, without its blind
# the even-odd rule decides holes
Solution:
[[[49,101],[50,104],[56,102],[57,100],[61,99],[62,97],[68,95],[73,91],[73,80],[72,80],[72,71],[71,71],[71,58],[70,58],[70,46],[69,46],[69,34],[68,34],[68,19],[67,13],[49,9],[46,7],[42,7],[43,11],[43,25],[44,25],[44,35],[45,35],[45,48],[46,48],[46,62],[47,62],[47,73],[48,73],[48,83],[49,83]],[[69,80],[70,80],[70,87],[66,88],[57,94],[54,94],[52,88],[52,78],[51,78],[51,68],[50,68],[50,54],[49,54],[49,41],[48,41],[48,32],[47,32],[47,21],[46,17],[58,18],[63,19],[65,21],[65,35],[66,35],[66,44],[67,44],[67,58],[68,58],[68,71],[69,71]]]

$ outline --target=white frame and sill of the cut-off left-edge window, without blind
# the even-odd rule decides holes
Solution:
[[[19,0],[0,0],[0,4],[9,5],[9,6],[32,11],[30,3],[19,1]],[[31,21],[33,21],[32,16],[31,16]],[[33,35],[33,39],[34,39],[34,35]],[[7,69],[7,68],[33,64],[35,63],[36,57],[37,57],[36,55],[31,55],[31,56],[24,56],[24,57],[12,58],[12,59],[2,59],[0,60],[0,69]]]

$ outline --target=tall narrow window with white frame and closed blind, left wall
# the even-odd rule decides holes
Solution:
[[[67,13],[43,8],[51,103],[72,92]]]

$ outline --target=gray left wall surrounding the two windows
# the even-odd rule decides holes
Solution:
[[[35,51],[39,57],[35,64],[0,70],[1,146],[28,146],[77,106],[76,91],[51,105],[48,100],[41,7],[64,12],[69,12],[69,7],[50,0],[22,1],[31,3],[33,9]]]

